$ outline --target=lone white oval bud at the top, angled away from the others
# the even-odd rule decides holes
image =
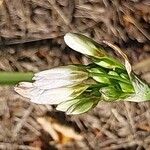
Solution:
[[[84,35],[67,33],[64,36],[64,40],[70,48],[82,54],[96,58],[105,56],[103,48],[98,43]]]

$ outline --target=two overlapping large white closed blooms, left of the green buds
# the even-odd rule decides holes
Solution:
[[[15,91],[37,104],[59,104],[76,98],[88,88],[82,82],[88,73],[82,67],[69,65],[36,73],[33,83],[21,82]]]

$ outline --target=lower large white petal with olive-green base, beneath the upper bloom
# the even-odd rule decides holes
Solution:
[[[89,86],[77,85],[74,87],[42,90],[34,87],[29,93],[32,102],[37,104],[59,104],[79,96]]]

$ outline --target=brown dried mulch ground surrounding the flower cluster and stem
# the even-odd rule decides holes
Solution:
[[[0,70],[88,64],[65,45],[68,32],[118,45],[150,83],[149,0],[0,0]],[[86,114],[66,116],[0,86],[0,149],[149,150],[150,103],[100,102]]]

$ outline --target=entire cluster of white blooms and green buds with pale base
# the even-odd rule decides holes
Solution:
[[[15,87],[17,93],[37,104],[56,104],[57,110],[67,114],[87,112],[102,100],[133,101],[137,95],[149,99],[149,86],[138,78],[132,81],[136,76],[130,76],[130,69],[107,55],[103,46],[80,34],[68,33],[64,39],[69,47],[90,57],[92,63],[36,73],[33,83],[21,82]]]

